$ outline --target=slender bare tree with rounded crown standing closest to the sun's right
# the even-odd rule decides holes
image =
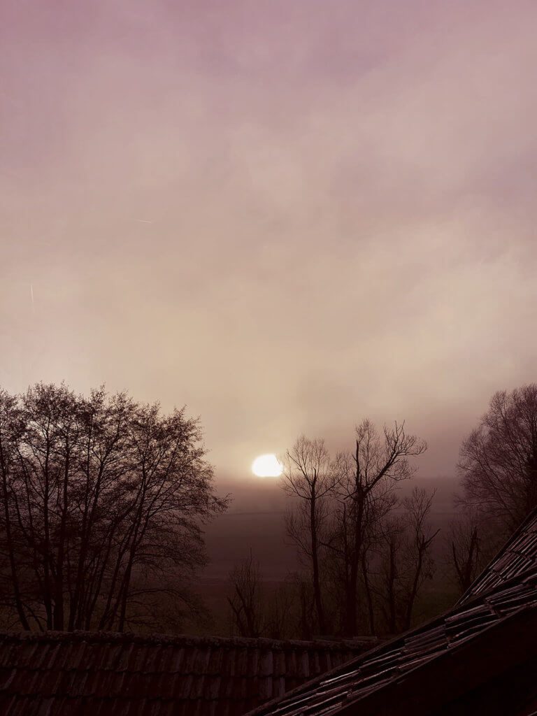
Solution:
[[[297,498],[286,516],[286,531],[311,566],[316,617],[321,634],[326,619],[321,591],[322,532],[328,518],[328,498],[336,475],[324,440],[302,435],[284,458],[282,484],[288,495]]]

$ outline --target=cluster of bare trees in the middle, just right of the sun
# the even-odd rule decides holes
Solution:
[[[428,523],[433,495],[415,488],[400,500],[397,488],[415,470],[410,458],[425,449],[404,424],[379,433],[368,420],[357,427],[352,450],[334,457],[323,440],[296,440],[281,484],[289,495],[286,534],[303,569],[272,595],[266,632],[290,629],[310,639],[408,629],[432,574],[436,533]],[[260,581],[252,556],[231,574],[233,620],[243,635],[251,627],[263,633]]]

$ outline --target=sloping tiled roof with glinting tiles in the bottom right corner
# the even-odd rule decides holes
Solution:
[[[529,639],[536,633],[536,629],[537,568],[534,567],[524,576],[505,581],[486,596],[474,597],[425,626],[314,679],[277,702],[259,707],[252,716],[254,713],[258,716],[432,714],[431,705],[420,710],[420,707],[424,708],[421,696],[424,688],[430,690],[430,699],[434,701],[440,698],[446,684],[454,690],[455,684],[462,683],[465,677],[470,678],[473,669],[474,679],[490,678],[493,667],[483,664],[486,662],[483,657],[488,652],[495,652],[492,657],[497,659],[495,668],[499,668],[501,662],[504,670],[505,659],[519,658],[517,650],[522,649],[520,658],[537,658],[537,643],[522,644],[526,637]],[[502,645],[502,639],[508,641],[510,631],[518,639],[515,649]],[[495,641],[483,644],[485,635],[489,634],[494,635]],[[536,640],[531,637],[531,642]],[[458,663],[460,654],[468,654],[468,649],[471,652],[473,647],[479,647],[478,652],[467,659],[463,668],[463,664]],[[438,667],[436,679],[430,679],[435,666]],[[455,671],[458,672],[456,678]],[[498,673],[503,672],[500,669]],[[468,688],[474,685],[470,679]],[[415,705],[411,709],[410,702],[405,702],[407,710],[401,711],[398,700],[405,693],[410,700],[415,700]],[[455,691],[446,695],[447,699],[452,697],[455,697]]]

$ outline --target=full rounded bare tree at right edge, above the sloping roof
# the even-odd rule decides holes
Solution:
[[[537,505],[537,384],[497,392],[463,442],[463,502],[512,531]]]

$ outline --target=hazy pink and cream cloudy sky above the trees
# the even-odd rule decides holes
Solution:
[[[200,416],[221,479],[364,417],[454,473],[537,379],[537,4],[3,0],[0,385]]]

